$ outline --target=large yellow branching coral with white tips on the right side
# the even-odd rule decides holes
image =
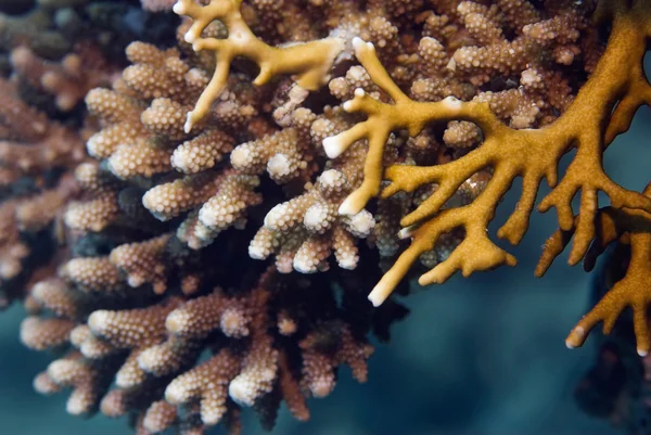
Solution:
[[[601,164],[605,146],[628,128],[635,111],[642,104],[651,103],[651,87],[642,72],[642,57],[651,36],[651,8],[646,0],[603,1],[595,18],[612,21],[608,48],[566,111],[553,123],[539,129],[515,130],[506,126],[492,112],[488,102],[481,98],[470,102],[461,102],[452,97],[438,102],[413,101],[390,78],[375,55],[373,44],[359,38],[354,40],[357,59],[372,81],[393,99],[393,104],[358,89],[354,99],[344,104],[344,110],[366,114],[367,119],[323,140],[326,153],[331,158],[358,140],[367,139],[369,142],[365,181],[341,205],[341,214],[358,213],[380,192],[384,144],[392,131],[406,129],[409,136],[414,137],[429,124],[464,120],[475,124],[484,138],[481,148],[456,161],[429,167],[394,165],[384,171],[384,178],[391,183],[382,192],[382,197],[399,191],[413,192],[429,183],[437,183],[438,189],[401,219],[400,223],[405,227],[401,235],[411,236],[412,242],[370,293],[369,299],[374,305],[386,299],[421,254],[431,251],[443,234],[459,228],[465,231],[463,241],[447,259],[423,274],[420,284],[443,283],[457,270],[468,277],[474,271],[503,264],[515,265],[516,259],[511,254],[488,239],[486,228],[494,218],[499,201],[516,177],[523,178],[521,199],[497,235],[512,244],[521,241],[528,227],[539,183],[546,178],[553,189],[540,202],[538,209],[547,212],[556,207],[561,230],[573,231],[571,265],[585,256],[596,236],[599,191],[610,197],[613,209],[651,212],[649,197],[613,182]],[[573,149],[576,149],[576,155],[558,182],[557,165]],[[442,210],[461,183],[485,168],[493,169],[493,177],[472,203]],[[580,208],[575,218],[571,202],[579,190]],[[636,234],[636,238],[638,235],[646,236]],[[634,256],[637,255],[646,254],[636,252]],[[570,345],[580,345],[587,330],[598,320],[607,320],[607,330],[611,328],[617,314],[627,304],[639,311],[638,317],[643,316],[648,298],[637,280],[651,269],[648,263],[649,258],[643,265],[641,260],[634,263],[631,277],[637,278],[630,278],[630,283],[621,284],[621,291],[605,297],[573,331],[567,342]],[[542,269],[539,271],[541,274]],[[649,333],[641,322],[643,319],[636,322],[638,348],[640,353],[647,353]]]

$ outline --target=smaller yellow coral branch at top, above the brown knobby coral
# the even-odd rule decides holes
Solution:
[[[324,38],[310,42],[272,47],[258,39],[240,12],[242,0],[212,0],[202,7],[194,0],[179,0],[174,12],[193,20],[184,39],[192,43],[194,51],[210,50],[215,52],[216,67],[208,86],[196,101],[194,108],[188,113],[186,132],[202,120],[210,110],[213,102],[226,88],[230,64],[237,56],[255,62],[260,71],[253,80],[260,86],[275,76],[295,74],[297,84],[311,91],[326,85],[335,56],[344,49],[341,38]],[[215,20],[220,21],[228,29],[225,39],[202,38],[202,31]]]

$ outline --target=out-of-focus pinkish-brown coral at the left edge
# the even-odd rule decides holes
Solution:
[[[85,153],[74,129],[29,107],[4,79],[0,95],[0,306],[7,307],[51,273],[65,239],[51,228],[78,192],[71,172]]]

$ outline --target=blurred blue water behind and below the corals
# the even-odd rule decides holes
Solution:
[[[649,59],[647,59],[649,71]],[[622,185],[641,191],[651,175],[651,110],[609,149],[604,166]],[[569,158],[565,158],[564,166]],[[548,189],[542,189],[545,194]],[[518,201],[519,184],[498,209],[492,232]],[[603,204],[603,202],[602,202]],[[576,208],[575,208],[576,209]],[[309,401],[311,420],[286,409],[275,434],[283,435],[609,435],[622,433],[577,408],[573,391],[592,364],[595,341],[565,348],[570,329],[589,307],[591,276],[560,257],[535,279],[541,244],[556,215],[534,215],[522,244],[508,246],[520,263],[469,279],[455,277],[406,298],[411,315],[378,344],[366,385],[347,369],[326,399]],[[413,284],[418,286],[418,284]],[[0,435],[122,435],[124,420],[66,414],[66,395],[34,392],[33,378],[50,362],[18,341],[20,306],[0,315]],[[245,413],[244,434],[265,433]],[[212,433],[221,434],[218,427]]]

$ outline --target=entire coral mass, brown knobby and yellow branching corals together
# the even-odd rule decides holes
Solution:
[[[571,265],[629,253],[567,346],[630,307],[649,353],[651,188],[601,159],[651,103],[651,1],[119,3],[0,15],[0,302],[55,350],[35,387],[68,412],[143,435],[237,434],[244,407],[270,428],[281,400],[307,420],[340,366],[367,381],[410,272],[515,265],[486,231],[515,178],[511,244],[552,187],[537,276],[572,239]],[[111,30],[170,9],[176,39]]]

